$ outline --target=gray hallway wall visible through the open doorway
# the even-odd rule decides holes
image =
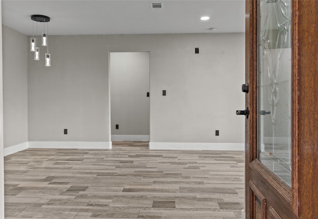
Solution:
[[[110,53],[111,135],[149,135],[149,82],[149,52]]]

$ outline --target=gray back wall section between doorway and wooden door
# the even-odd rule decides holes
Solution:
[[[244,34],[158,40],[151,51],[151,142],[244,143],[244,119],[235,113],[245,108],[244,40]]]

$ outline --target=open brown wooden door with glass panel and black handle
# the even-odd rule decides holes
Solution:
[[[318,0],[246,0],[246,83],[246,219],[318,219]]]

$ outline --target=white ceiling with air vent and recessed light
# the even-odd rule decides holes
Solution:
[[[2,23],[23,34],[32,35],[32,14],[51,17],[50,35],[245,31],[244,0],[2,0]]]

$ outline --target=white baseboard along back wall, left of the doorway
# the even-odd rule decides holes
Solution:
[[[29,142],[29,148],[111,149],[111,142]]]

